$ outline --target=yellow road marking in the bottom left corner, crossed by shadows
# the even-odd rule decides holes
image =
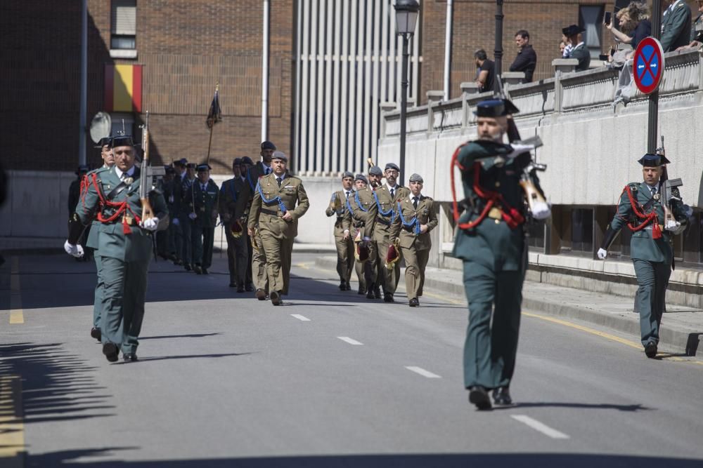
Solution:
[[[3,468],[24,465],[25,424],[22,422],[22,380],[0,376],[0,462]]]

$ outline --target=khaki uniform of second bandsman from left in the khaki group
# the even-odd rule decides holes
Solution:
[[[361,234],[362,241],[369,249],[366,262],[356,261],[356,276],[359,277],[359,286],[362,290],[373,290],[378,281],[376,274],[377,254],[373,243],[373,230],[378,216],[378,206],[373,198],[373,189],[366,187],[350,195],[347,199],[347,211],[344,213],[344,223],[349,227],[352,241]]]

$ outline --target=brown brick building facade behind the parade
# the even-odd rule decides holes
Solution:
[[[295,93],[295,13],[302,0],[271,0],[269,139],[290,154]],[[333,0],[327,0],[333,1]],[[373,0],[368,0],[373,1]],[[381,1],[381,0],[377,0]],[[385,0],[390,1],[390,0]],[[443,88],[446,0],[423,0],[420,16],[420,102]],[[650,2],[651,3],[651,2]],[[697,6],[689,1],[694,17]],[[103,109],[105,64],[144,65],[143,110],[150,112],[154,161],[207,154],[205,114],[219,81],[223,121],[214,128],[210,163],[228,173],[236,156],[257,157],[261,135],[262,22],[260,0],[137,0],[136,60],[110,58],[110,1],[88,0],[88,122]],[[454,0],[451,97],[475,77],[473,53],[493,55],[496,2]],[[580,5],[599,0],[508,0],[503,12],[503,69],[517,50],[514,35],[527,29],[538,55],[536,79],[551,74],[561,28],[579,22]],[[0,67],[0,125],[6,136],[1,156],[11,169],[75,169],[79,145],[79,53],[81,2],[0,2],[3,67]],[[604,30],[603,48],[610,46]],[[143,116],[135,116],[139,121]],[[135,131],[139,136],[139,131]],[[295,155],[293,155],[295,158]],[[98,165],[88,142],[88,161]]]

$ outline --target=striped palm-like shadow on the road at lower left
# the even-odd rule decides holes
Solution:
[[[51,422],[111,416],[105,410],[112,395],[98,386],[96,368],[85,359],[68,354],[60,343],[0,345],[0,375],[22,377],[22,408],[18,422]],[[103,413],[93,413],[102,410]],[[0,408],[0,416],[13,417],[12,408]],[[12,422],[12,421],[9,421]]]

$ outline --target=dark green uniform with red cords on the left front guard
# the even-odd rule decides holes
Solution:
[[[98,171],[76,207],[80,221],[86,225],[93,213],[101,210],[105,221],[99,225],[98,252],[103,279],[102,342],[114,343],[124,354],[134,354],[144,315],[148,265],[152,256],[152,233],[138,227],[141,216],[139,199],[140,170],[134,168],[131,182],[122,184],[115,168]],[[129,182],[129,178],[127,178]],[[121,187],[113,194],[115,187]],[[110,197],[110,194],[113,194]],[[166,201],[160,192],[149,194],[152,208],[160,220],[168,216]],[[125,203],[125,208],[106,207],[101,199]],[[117,210],[123,209],[117,214]],[[114,218],[114,219],[111,219]]]

